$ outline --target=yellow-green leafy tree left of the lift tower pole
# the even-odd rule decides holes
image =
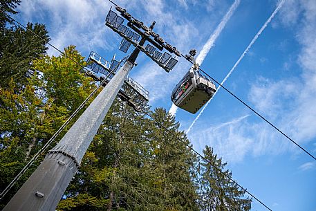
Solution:
[[[75,50],[75,46],[66,48],[65,53],[79,64],[84,64],[84,57]],[[32,62],[32,68],[35,72],[27,79],[23,89],[16,86],[12,79],[8,88],[0,87],[1,190],[95,88],[91,79],[80,73],[81,66],[64,56],[42,56]],[[30,172],[34,168],[31,167]],[[6,200],[22,183],[23,180]],[[1,201],[0,208],[6,200]]]

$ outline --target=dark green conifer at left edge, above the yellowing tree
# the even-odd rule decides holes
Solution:
[[[0,35],[0,86],[8,88],[13,80],[18,88],[23,88],[34,73],[32,61],[46,53],[49,37],[43,24],[28,23],[28,30],[20,26],[3,28]],[[36,33],[36,37],[31,32]]]

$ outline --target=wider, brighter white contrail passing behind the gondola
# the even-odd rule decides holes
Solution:
[[[230,20],[230,17],[234,14],[236,8],[239,6],[240,0],[235,0],[232,6],[230,6],[230,9],[227,11],[223,19],[221,20],[221,23],[219,23],[219,26],[216,27],[214,30],[214,33],[210,36],[210,38],[207,40],[207,42],[204,44],[202,51],[198,54],[198,57],[196,58],[196,63],[202,64],[207,53],[210,52],[211,48],[214,46],[214,43],[221,34],[221,31],[223,28],[225,28],[227,21]],[[175,104],[171,105],[171,108],[169,109],[169,113],[176,116],[176,111],[178,110],[178,107],[176,107]]]

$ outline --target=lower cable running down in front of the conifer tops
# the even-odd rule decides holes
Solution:
[[[240,187],[243,191],[247,192],[250,196],[252,196],[252,198],[256,199],[256,201],[258,201],[259,203],[261,203],[261,205],[263,205],[264,207],[266,207],[268,210],[272,211],[265,203],[263,203],[262,201],[260,201],[256,196],[254,196],[253,194],[251,194],[247,189],[243,188],[241,185],[239,185],[239,183],[237,183],[236,181],[234,181],[234,179],[232,179],[232,177],[228,176],[227,174],[225,174],[224,172],[221,171],[221,169],[219,167],[217,167],[216,165],[214,165],[214,163],[212,163],[210,160],[208,160],[207,158],[205,158],[205,156],[201,155],[199,152],[197,152],[192,146],[188,145],[187,143],[185,143],[184,140],[182,140],[180,137],[178,137],[176,134],[174,134],[174,132],[170,131],[169,129],[167,129],[167,127],[165,127],[165,125],[162,125],[158,120],[156,120],[156,118],[154,118],[154,116],[152,116],[149,112],[145,111],[145,109],[142,109],[142,111],[144,113],[147,114],[147,116],[149,116],[151,119],[153,119],[155,122],[157,122],[157,124],[162,127],[163,129],[165,129],[165,131],[167,131],[169,134],[171,134],[171,136],[174,136],[174,138],[180,140],[180,142],[182,142],[183,144],[185,144],[189,149],[191,149],[193,152],[195,152],[198,156],[200,156],[203,160],[205,160],[207,163],[209,163],[210,165],[212,165],[212,167],[214,167],[216,170],[218,170],[221,174],[223,174],[223,176],[225,176],[226,178],[228,178],[230,181],[232,181],[234,184],[236,184],[238,187]]]

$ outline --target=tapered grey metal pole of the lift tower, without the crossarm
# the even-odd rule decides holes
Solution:
[[[138,53],[137,53],[138,55]],[[137,56],[136,55],[136,56]],[[129,59],[82,113],[73,127],[13,196],[3,211],[55,210],[118,91],[133,68]]]

